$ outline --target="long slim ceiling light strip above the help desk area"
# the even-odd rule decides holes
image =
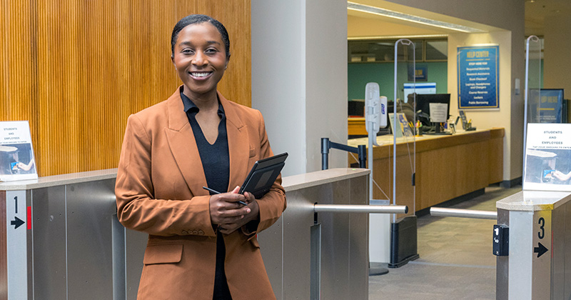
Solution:
[[[463,25],[458,25],[458,24],[452,24],[452,23],[437,21],[437,20],[433,20],[433,19],[427,19],[427,18],[423,18],[422,16],[413,16],[412,14],[403,14],[403,13],[400,13],[398,11],[390,11],[388,9],[381,9],[381,8],[375,7],[375,6],[357,4],[354,2],[350,2],[350,1],[347,2],[347,9],[350,9],[352,11],[362,11],[362,12],[365,12],[368,14],[377,14],[379,16],[388,16],[389,18],[394,18],[394,19],[399,19],[399,20],[404,20],[404,21],[410,21],[410,22],[414,22],[414,23],[418,23],[418,24],[436,26],[436,27],[440,27],[440,28],[444,28],[444,29],[452,29],[455,31],[468,32],[468,33],[485,32],[483,30],[475,29],[473,27],[468,27],[468,26],[463,26]]]

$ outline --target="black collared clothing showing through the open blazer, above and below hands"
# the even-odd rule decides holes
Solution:
[[[230,181],[230,154],[228,154],[228,135],[226,134],[226,115],[220,101],[218,101],[218,116],[221,117],[218,124],[218,137],[214,144],[208,143],[202,132],[201,126],[196,121],[198,114],[198,106],[183,94],[181,89],[181,98],[183,99],[184,111],[188,117],[188,123],[191,124],[198,153],[201,156],[204,175],[206,176],[206,184],[208,187],[225,193],[228,190],[228,182]],[[214,275],[214,300],[232,299],[230,290],[228,289],[228,281],[226,281],[226,273],[224,271],[224,258],[226,257],[226,247],[224,239],[220,232],[216,237],[216,272]]]

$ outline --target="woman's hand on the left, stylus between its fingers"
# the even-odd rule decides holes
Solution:
[[[210,197],[210,217],[212,224],[237,224],[249,214],[251,209],[248,206],[239,204],[238,201],[246,202],[246,196],[238,194],[240,186],[236,186],[228,193],[216,194]],[[229,232],[228,232],[229,233]]]

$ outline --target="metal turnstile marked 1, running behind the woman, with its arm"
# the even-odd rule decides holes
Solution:
[[[283,179],[288,209],[258,234],[278,299],[368,298],[368,213],[406,209],[366,205],[368,174]],[[115,177],[109,169],[0,183],[0,299],[136,299],[147,236],[119,224]]]

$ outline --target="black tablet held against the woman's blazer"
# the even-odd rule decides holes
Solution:
[[[256,199],[260,199],[270,191],[273,182],[276,181],[281,169],[285,166],[286,158],[288,158],[287,152],[256,161],[240,188],[240,194],[248,191]]]

